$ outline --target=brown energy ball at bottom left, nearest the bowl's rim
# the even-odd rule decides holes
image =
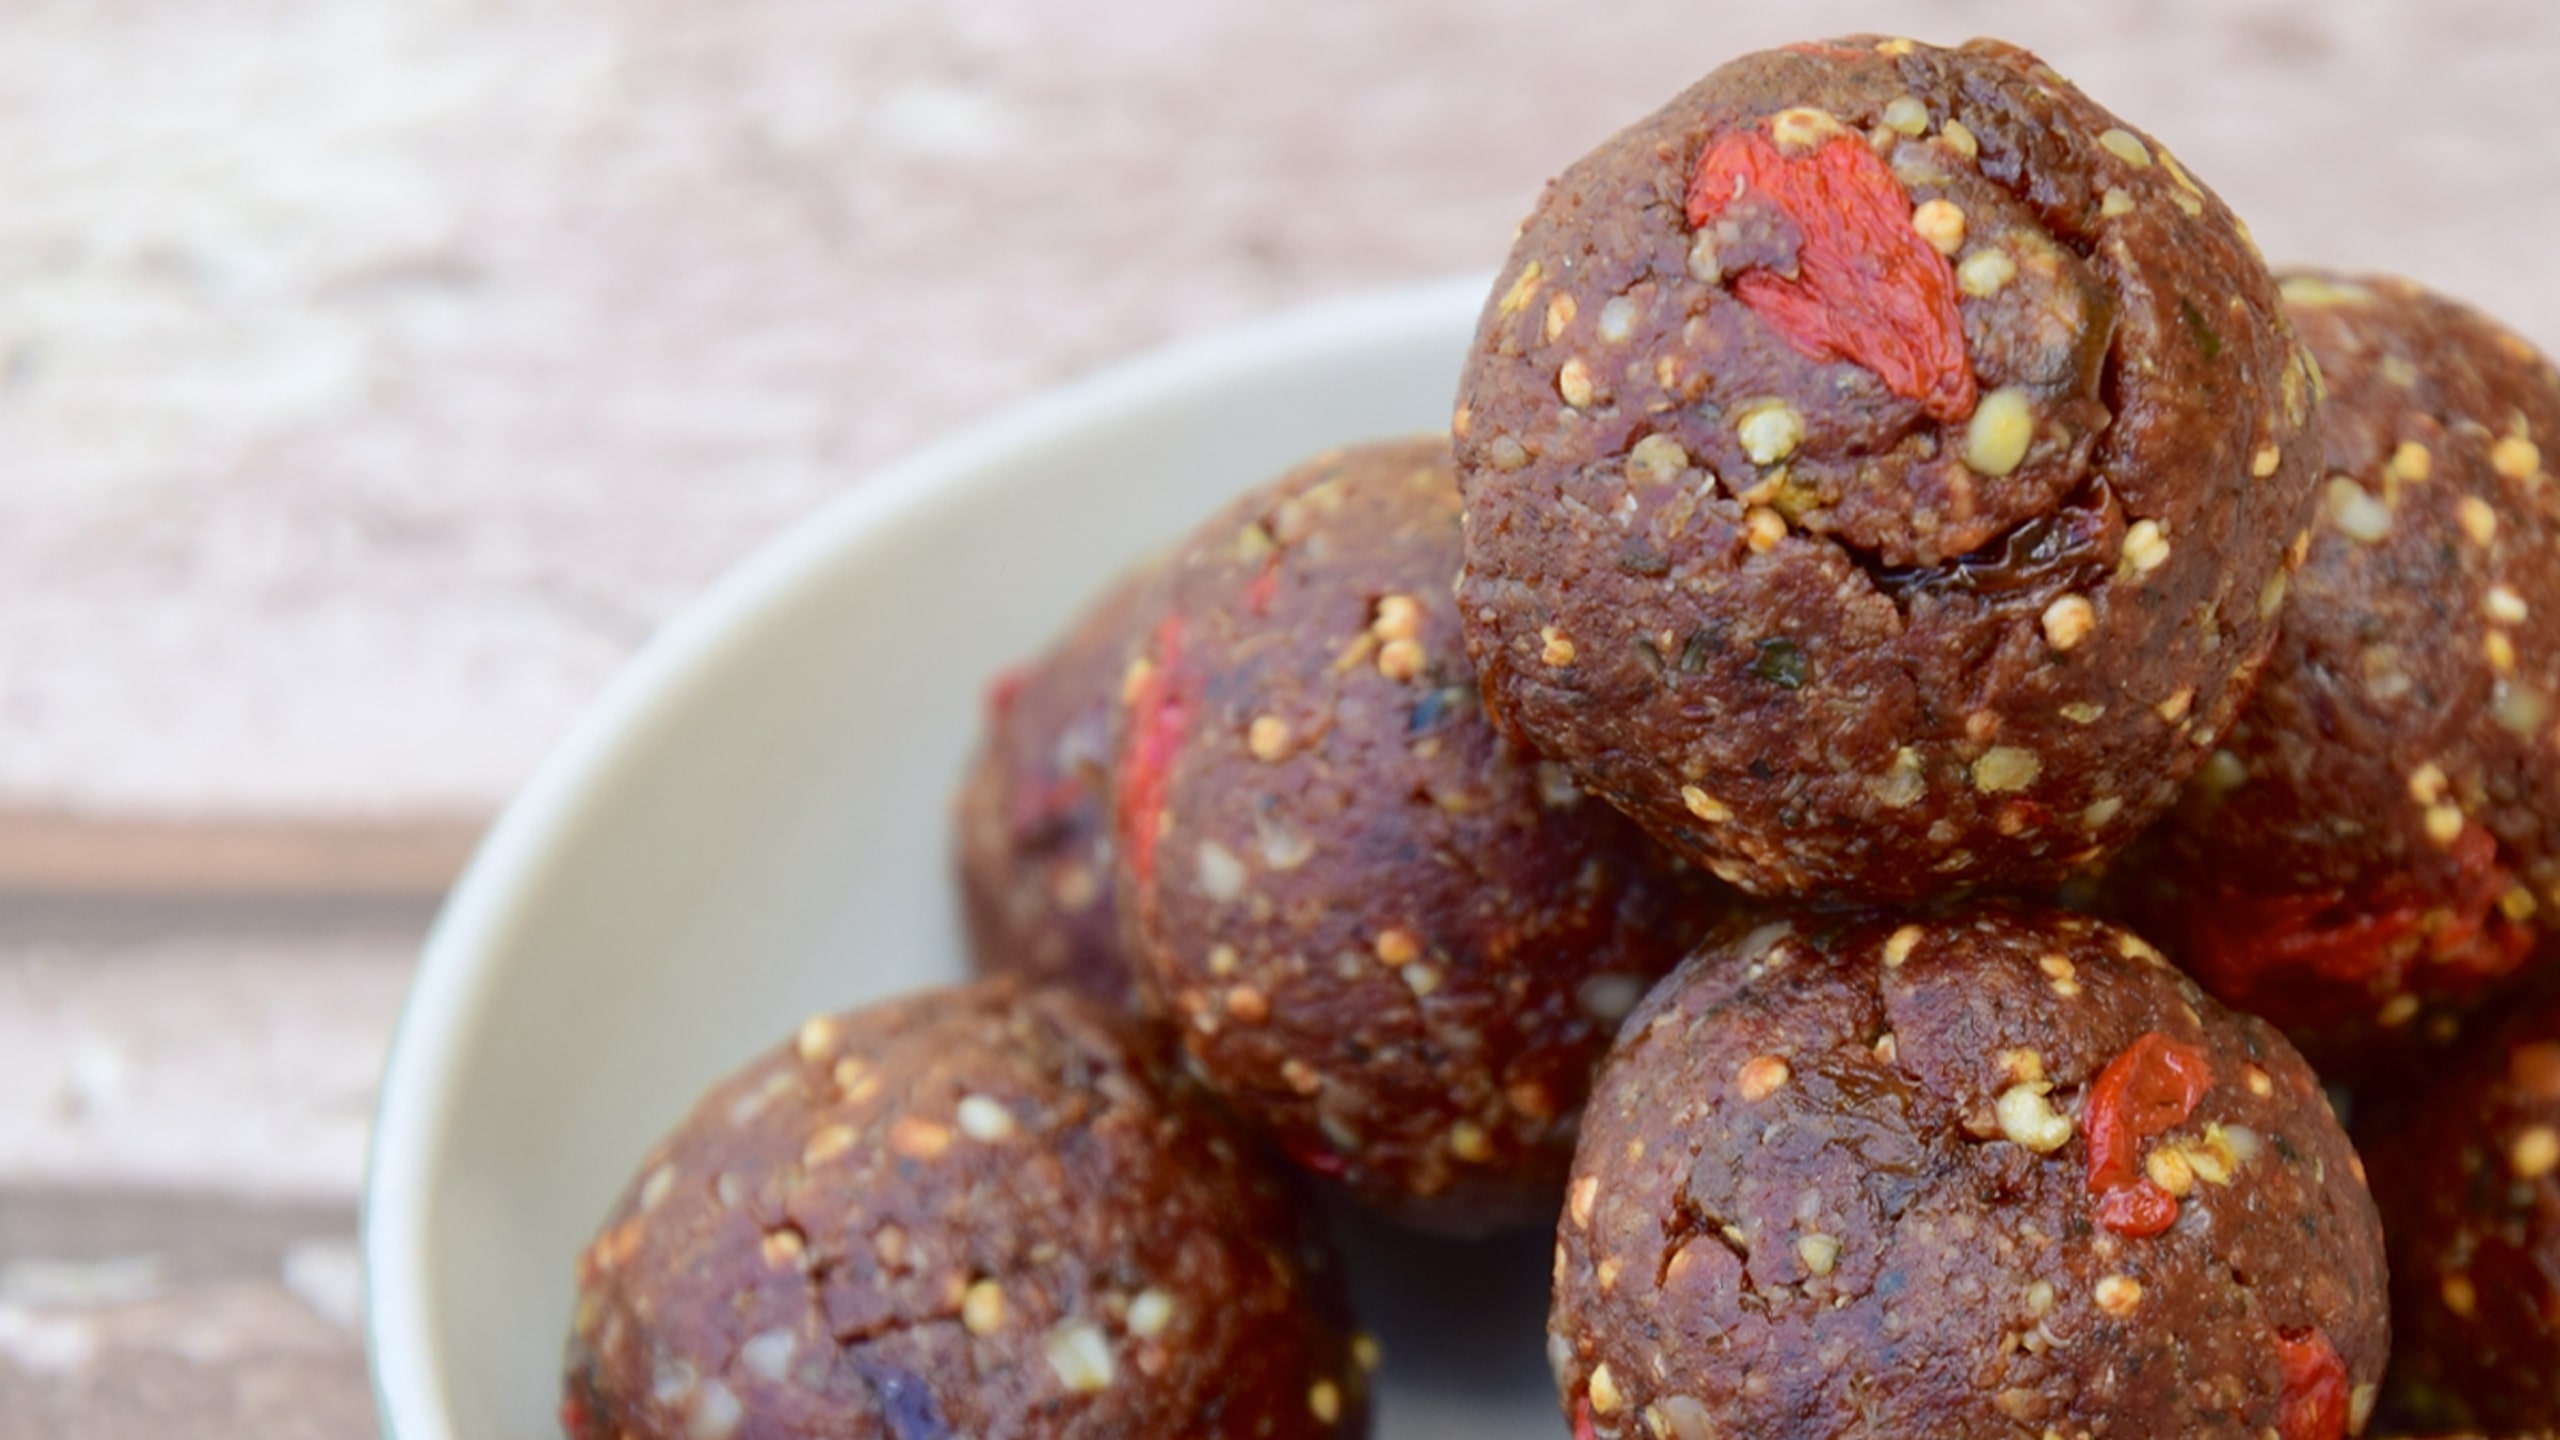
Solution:
[[[1364,1435],[1331,1253],[1172,1061],[1014,981],[809,1020],[581,1256],[568,1437]]]

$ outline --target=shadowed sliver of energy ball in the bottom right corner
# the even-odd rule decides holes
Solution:
[[[2391,1238],[2391,1407],[2560,1427],[2560,994],[2365,1133]]]

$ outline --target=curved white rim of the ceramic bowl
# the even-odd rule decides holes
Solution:
[[[730,635],[783,605],[855,548],[993,484],[1021,454],[1075,430],[1178,405],[1242,374],[1449,328],[1485,305],[1492,277],[1398,284],[1172,341],[1085,379],[1021,400],[965,433],[858,477],[722,571],[604,684],[504,805],[438,910],[384,1061],[366,1140],[358,1248],[364,1350],[381,1440],[456,1440],[443,1353],[428,1302],[430,1158],[445,1148],[458,1081],[456,1038],[486,1004],[494,956],[525,922],[581,812],[632,769],[655,723],[691,694]]]

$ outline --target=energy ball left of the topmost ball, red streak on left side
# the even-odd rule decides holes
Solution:
[[[1208,1084],[1439,1230],[1544,1225],[1618,1020],[1723,912],[1485,720],[1441,441],[1336,451],[1165,574],[1126,687],[1121,912]]]

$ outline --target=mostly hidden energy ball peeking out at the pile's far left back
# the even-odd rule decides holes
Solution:
[[[986,738],[957,797],[978,974],[1137,1004],[1111,904],[1111,710],[1147,638],[1147,579],[1124,577],[1050,653],[988,689]]]

